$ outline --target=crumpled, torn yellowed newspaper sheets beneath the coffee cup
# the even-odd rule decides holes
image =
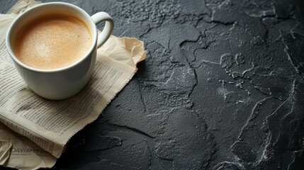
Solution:
[[[98,118],[146,56],[140,40],[111,36],[97,50],[94,73],[79,94],[63,101],[41,98],[19,76],[4,41],[13,19],[37,4],[20,0],[0,14],[0,165],[18,169],[52,167],[67,141]]]

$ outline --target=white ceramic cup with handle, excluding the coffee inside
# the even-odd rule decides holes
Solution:
[[[92,45],[89,52],[78,62],[60,69],[35,69],[19,61],[13,51],[13,42],[18,40],[18,30],[31,19],[49,11],[63,11],[80,18],[86,23],[92,36]],[[97,33],[96,24],[106,22],[100,35]],[[63,2],[45,3],[23,12],[9,27],[6,34],[6,48],[13,59],[18,73],[28,87],[43,98],[61,100],[77,94],[89,81],[96,62],[97,48],[103,45],[113,31],[113,19],[108,13],[99,12],[89,16],[86,11]]]

